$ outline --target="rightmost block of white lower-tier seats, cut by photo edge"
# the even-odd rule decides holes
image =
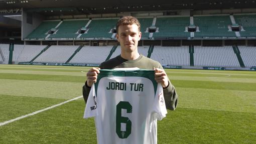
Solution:
[[[256,47],[238,46],[243,63],[246,67],[256,66]]]

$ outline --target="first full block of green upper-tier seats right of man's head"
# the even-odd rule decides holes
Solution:
[[[154,33],[153,37],[190,37],[190,33],[185,32],[189,21],[189,17],[158,17],[156,27],[159,32]]]

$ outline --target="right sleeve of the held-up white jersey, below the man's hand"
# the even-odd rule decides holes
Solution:
[[[154,101],[154,111],[156,112],[155,116],[158,120],[162,120],[167,114],[164,92],[161,84],[158,84],[157,86],[157,92]]]

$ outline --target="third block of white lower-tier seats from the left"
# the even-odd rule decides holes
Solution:
[[[34,62],[65,63],[79,46],[51,46]]]

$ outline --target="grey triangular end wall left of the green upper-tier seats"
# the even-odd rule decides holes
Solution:
[[[22,9],[22,40],[35,30],[45,17],[37,13],[28,13]]]

